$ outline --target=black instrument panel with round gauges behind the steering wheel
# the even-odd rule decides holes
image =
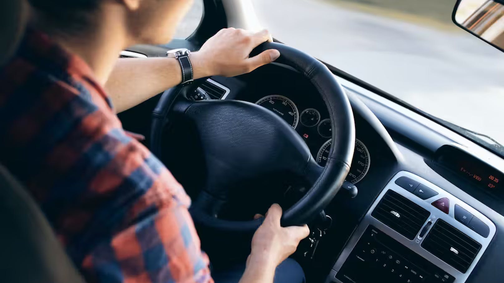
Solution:
[[[272,74],[276,84],[264,79],[272,78]],[[333,125],[323,100],[299,74],[283,66],[271,64],[254,73],[242,75],[238,80],[240,82],[228,78],[207,80],[194,93],[188,94],[187,98],[238,99],[263,106],[292,126],[307,144],[318,164],[326,165],[332,145]],[[242,84],[248,87],[243,88]],[[231,90],[228,91],[229,89]],[[365,123],[363,120],[357,121]],[[373,135],[369,136],[367,132],[372,130],[365,125],[357,125],[356,128],[355,151],[347,176],[347,181],[353,184],[366,177],[371,166],[371,152],[374,150],[367,146],[368,143],[374,144],[371,137]]]

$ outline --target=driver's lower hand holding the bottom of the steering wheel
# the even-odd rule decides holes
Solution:
[[[299,242],[308,237],[310,230],[304,226],[280,226],[282,207],[273,204],[263,224],[252,238],[252,248],[247,260],[249,264],[259,264],[264,268],[276,268],[296,251]]]

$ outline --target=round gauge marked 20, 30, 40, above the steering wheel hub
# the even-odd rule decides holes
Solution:
[[[256,104],[275,112],[289,125],[296,128],[299,121],[299,112],[292,100],[282,95],[269,95],[258,100]]]

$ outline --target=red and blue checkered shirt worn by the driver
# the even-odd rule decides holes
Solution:
[[[0,71],[0,163],[89,282],[213,281],[181,185],[88,65],[32,30]]]

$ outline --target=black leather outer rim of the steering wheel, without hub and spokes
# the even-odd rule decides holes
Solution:
[[[316,88],[329,110],[333,125],[332,147],[327,164],[319,179],[310,190],[292,207],[284,212],[282,225],[300,225],[310,222],[334,198],[343,184],[353,157],[355,145],[355,124],[353,113],[343,87],[335,76],[319,60],[290,46],[266,42],[258,46],[250,56],[267,49],[277,49],[280,57],[276,62],[293,67]],[[182,87],[167,90],[153,112],[151,128],[151,151],[160,156],[161,132],[167,114]],[[192,211],[193,217],[211,224],[212,227],[231,231],[253,231],[261,221],[227,221]]]

